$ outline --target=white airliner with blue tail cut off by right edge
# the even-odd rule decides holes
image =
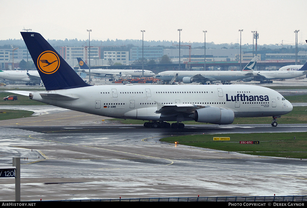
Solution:
[[[306,76],[307,74],[307,62],[297,71],[254,71],[255,76],[243,79],[244,82],[250,82],[251,80],[260,81],[260,83],[273,83],[272,80],[279,79],[292,79],[300,76]]]

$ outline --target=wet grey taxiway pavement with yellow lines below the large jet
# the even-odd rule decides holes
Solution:
[[[159,142],[194,133],[305,132],[305,124],[187,125],[179,131],[45,112],[0,123],[0,165],[21,157],[23,201],[307,194],[307,160]],[[0,200],[14,201],[14,179],[0,181]]]

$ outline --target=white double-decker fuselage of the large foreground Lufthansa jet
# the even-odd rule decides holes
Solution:
[[[74,100],[44,99],[40,93],[66,95]],[[235,117],[267,117],[289,113],[292,105],[281,94],[251,85],[113,85],[34,92],[33,100],[71,110],[124,119],[176,121],[155,113],[162,105],[192,103],[232,110]],[[185,115],[184,121],[192,120]]]

